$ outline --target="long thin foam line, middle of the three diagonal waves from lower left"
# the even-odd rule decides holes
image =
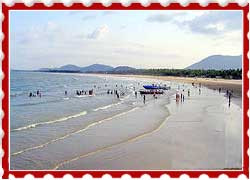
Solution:
[[[90,123],[90,124],[88,124],[86,127],[82,128],[82,129],[78,129],[78,130],[73,131],[73,132],[71,132],[71,133],[69,133],[69,134],[66,134],[66,135],[64,135],[64,136],[58,137],[58,138],[56,138],[56,139],[52,139],[52,140],[50,140],[50,141],[48,141],[48,142],[46,142],[46,143],[44,143],[44,144],[40,144],[40,145],[37,145],[37,146],[34,146],[34,147],[26,148],[26,149],[20,150],[20,151],[18,151],[18,152],[12,153],[11,156],[16,156],[16,155],[22,154],[22,153],[27,152],[27,151],[31,151],[31,150],[43,148],[43,147],[45,147],[45,146],[47,146],[47,145],[49,145],[49,144],[52,144],[52,143],[54,143],[54,142],[56,142],[56,141],[63,140],[63,139],[66,139],[66,138],[68,138],[68,137],[70,137],[70,136],[72,136],[72,135],[74,135],[74,134],[78,134],[78,133],[87,131],[89,128],[91,128],[91,127],[93,127],[93,126],[96,126],[96,125],[98,125],[98,124],[104,123],[104,122],[106,122],[106,121],[110,121],[110,120],[112,120],[112,119],[114,119],[114,118],[120,117],[120,116],[125,115],[125,114],[130,113],[130,112],[133,112],[133,111],[135,111],[135,110],[137,110],[137,109],[139,109],[139,107],[135,107],[135,108],[133,108],[133,109],[130,109],[130,110],[128,110],[128,111],[125,111],[125,112],[116,114],[116,115],[114,115],[114,116],[111,116],[111,117],[108,117],[108,118],[105,118],[105,119],[102,119],[102,120],[99,120],[99,121]]]

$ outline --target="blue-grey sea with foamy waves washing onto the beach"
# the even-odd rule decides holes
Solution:
[[[134,77],[11,71],[10,168],[60,169],[68,159],[153,131],[168,116],[165,105],[175,91],[159,96],[157,103],[147,96],[147,107],[135,91],[156,83],[178,86]],[[98,130],[109,121],[117,124]],[[105,136],[110,131],[112,138]]]

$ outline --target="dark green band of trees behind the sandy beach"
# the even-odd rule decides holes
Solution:
[[[112,72],[108,73],[112,74]],[[116,72],[116,74],[242,79],[242,69],[230,69],[230,70],[136,69],[133,71],[124,71],[120,73]]]

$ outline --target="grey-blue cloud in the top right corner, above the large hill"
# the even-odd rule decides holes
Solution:
[[[242,29],[242,14],[239,11],[210,11],[192,20],[175,24],[187,28],[193,33],[205,35],[220,35]]]

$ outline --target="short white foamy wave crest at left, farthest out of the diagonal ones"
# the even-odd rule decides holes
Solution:
[[[62,122],[62,121],[67,121],[69,119],[76,118],[76,117],[79,117],[79,116],[84,116],[86,114],[87,114],[87,111],[82,111],[82,112],[80,112],[78,114],[74,114],[74,115],[71,115],[71,116],[62,117],[60,119],[56,119],[56,120],[52,120],[52,121],[34,123],[34,124],[30,124],[28,126],[13,129],[11,131],[12,132],[13,131],[22,131],[22,130],[26,130],[26,129],[30,129],[30,128],[35,128],[35,127],[40,126],[40,125],[53,124],[53,123],[58,123],[58,122]]]

